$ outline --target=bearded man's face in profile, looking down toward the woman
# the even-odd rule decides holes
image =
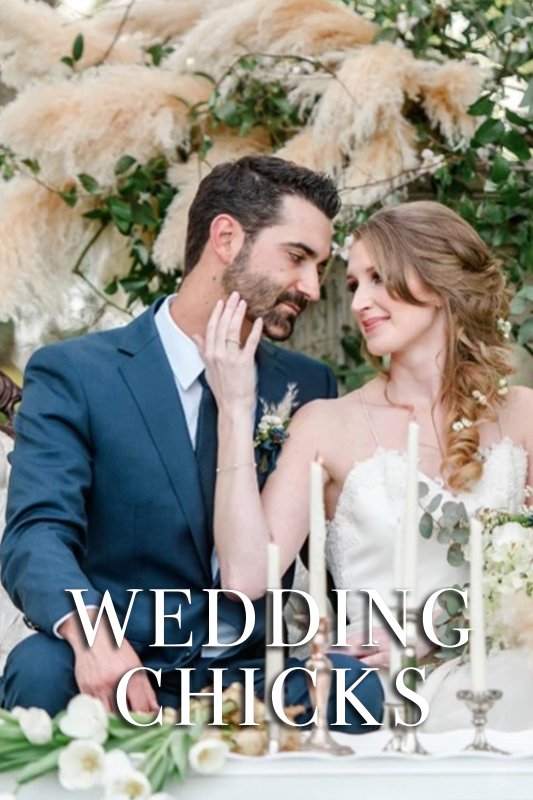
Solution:
[[[246,317],[263,319],[271,339],[291,335],[297,316],[320,297],[320,271],[331,242],[331,222],[312,203],[288,195],[281,222],[245,241],[222,277],[225,292],[237,291],[247,303]]]

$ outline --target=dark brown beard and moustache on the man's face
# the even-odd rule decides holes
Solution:
[[[278,284],[266,275],[258,276],[250,272],[252,244],[251,241],[245,241],[235,260],[226,268],[222,286],[228,296],[232,292],[239,292],[246,300],[247,319],[253,322],[261,317],[263,331],[269,339],[284,342],[291,336],[298,315],[281,308],[281,303],[290,303],[303,311],[307,300],[301,292],[280,291]]]

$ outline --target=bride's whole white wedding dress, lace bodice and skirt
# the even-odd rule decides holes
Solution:
[[[376,439],[374,431],[373,435]],[[443,487],[440,478],[420,473],[420,481],[429,487],[423,499],[424,506],[433,496],[442,494],[444,501],[462,500],[469,514],[482,507],[517,512],[524,502],[526,451],[504,437],[483,451],[483,456],[483,475],[471,492],[452,494]],[[329,523],[327,559],[335,586],[353,590],[347,596],[351,632],[362,632],[366,624],[366,598],[357,590],[376,589],[391,608],[395,607],[394,550],[403,516],[405,483],[403,453],[378,445],[370,458],[354,464],[343,486],[335,516]],[[466,568],[448,564],[446,550],[446,545],[440,544],[435,534],[430,539],[420,537],[417,603],[423,603],[437,589],[468,580]],[[533,728],[532,661],[533,654],[525,650],[490,654],[488,688],[504,692],[504,698],[490,714],[491,727],[501,730]],[[380,668],[380,675],[385,684],[389,683],[388,673],[383,673],[383,668]],[[469,688],[469,665],[459,663],[459,659],[446,662],[428,676],[425,684],[420,683],[417,691],[427,698],[430,706],[424,730],[469,727],[471,715],[464,703],[456,699],[459,689]]]

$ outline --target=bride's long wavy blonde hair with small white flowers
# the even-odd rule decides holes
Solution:
[[[439,398],[446,410],[441,470],[450,488],[470,489],[483,472],[479,423],[497,418],[504,402],[501,381],[513,372],[510,344],[497,325],[507,319],[510,299],[501,262],[465,220],[431,201],[378,211],[357,238],[375,259],[391,296],[424,305],[407,284],[414,273],[440,298],[447,323]],[[378,359],[366,355],[387,374]],[[472,425],[454,430],[453,423],[463,418]]]

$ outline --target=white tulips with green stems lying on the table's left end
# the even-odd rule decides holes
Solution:
[[[212,717],[209,699],[193,701],[192,724],[177,726],[178,714],[164,708],[162,724],[147,725],[153,715],[132,713],[137,727],[88,695],[76,695],[66,711],[53,719],[38,708],[0,709],[0,772],[13,772],[18,789],[48,772],[57,771],[67,791],[103,788],[105,800],[172,800],[163,792],[167,781],[183,780],[188,770],[210,775],[223,769],[230,751],[263,755],[268,736],[262,701],[255,699],[257,726],[241,725],[242,686],[224,690],[223,725],[208,725]],[[303,711],[289,706],[289,718]],[[296,731],[299,734],[299,731]],[[294,732],[284,737],[282,749],[294,749]],[[130,757],[133,754],[133,758]]]

